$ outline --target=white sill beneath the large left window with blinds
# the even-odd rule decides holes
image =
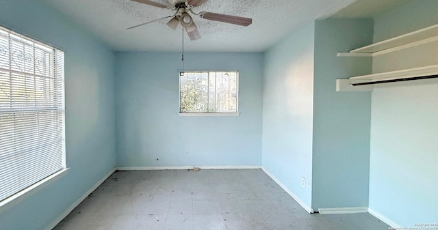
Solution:
[[[49,177],[42,179],[40,182],[37,182],[36,184],[25,188],[21,192],[17,192],[15,195],[12,195],[11,197],[4,199],[3,201],[0,201],[0,213],[8,210],[8,208],[12,207],[13,205],[20,203],[21,201],[23,201],[23,199],[30,197],[41,188],[44,188],[45,186],[48,186],[49,184],[55,182],[57,179],[60,179],[67,174],[68,169],[69,168],[57,171],[56,173],[49,175]]]

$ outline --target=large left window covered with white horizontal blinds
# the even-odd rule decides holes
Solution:
[[[0,201],[65,169],[64,53],[0,27]]]

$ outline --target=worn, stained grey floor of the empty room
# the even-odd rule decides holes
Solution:
[[[370,214],[309,214],[259,169],[116,171],[56,230],[383,230]]]

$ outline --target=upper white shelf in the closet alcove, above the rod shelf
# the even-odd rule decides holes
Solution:
[[[385,53],[391,53],[394,51],[400,51],[405,48],[413,46],[420,46],[422,44],[428,44],[430,42],[438,41],[438,25],[426,27],[411,33],[400,35],[396,38],[384,40],[370,44],[369,46],[363,46],[349,53],[337,53],[338,57],[374,57],[378,55],[384,55]]]

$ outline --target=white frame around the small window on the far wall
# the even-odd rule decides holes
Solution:
[[[236,112],[181,112],[181,76],[184,72],[235,72],[236,81]],[[239,94],[240,94],[240,72],[239,70],[178,70],[178,115],[180,117],[238,117],[239,111]]]

